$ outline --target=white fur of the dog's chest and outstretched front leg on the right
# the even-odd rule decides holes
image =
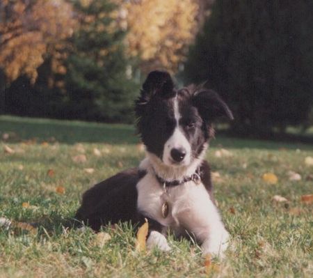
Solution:
[[[154,176],[148,159],[143,160],[141,169],[147,174],[137,184],[138,210],[163,226],[170,227],[177,235],[182,228],[202,242],[204,254],[223,256],[227,248],[228,233],[220,219],[218,209],[212,203],[204,185],[193,181],[176,187],[168,187],[169,213],[162,217],[163,188]]]

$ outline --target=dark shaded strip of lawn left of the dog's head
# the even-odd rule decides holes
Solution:
[[[48,119],[0,116],[0,134],[9,134],[8,141],[35,139],[58,141],[64,144],[77,142],[136,144],[139,139],[131,125],[58,121]]]

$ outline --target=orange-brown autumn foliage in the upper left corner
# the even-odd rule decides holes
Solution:
[[[55,59],[54,69],[60,69],[58,52],[75,24],[71,14],[72,6],[65,0],[17,0],[0,5],[0,66],[9,82],[23,74],[35,82],[45,56]]]

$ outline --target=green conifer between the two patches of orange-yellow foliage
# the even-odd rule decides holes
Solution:
[[[87,2],[87,3],[84,3]],[[106,0],[74,1],[80,24],[67,59],[66,110],[72,118],[130,121],[136,85],[127,78],[124,31]]]

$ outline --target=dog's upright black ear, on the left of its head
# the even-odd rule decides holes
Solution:
[[[141,90],[141,97],[149,101],[153,95],[159,94],[161,96],[172,95],[174,83],[172,77],[165,71],[154,70],[149,73],[147,79],[143,83]]]

